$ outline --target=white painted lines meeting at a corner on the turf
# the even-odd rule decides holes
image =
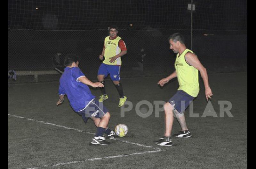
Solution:
[[[69,129],[69,130],[76,130],[78,132],[85,132],[85,133],[88,133],[88,134],[91,134],[91,135],[95,135],[95,133],[91,133],[89,131],[86,132],[84,130],[74,129],[74,128],[70,128],[70,127],[66,127],[66,126],[61,126],[61,125],[57,125],[57,124],[53,124],[53,123],[49,123],[49,122],[44,122],[44,121],[38,121],[38,120],[35,120],[35,119],[30,119],[30,118],[26,118],[26,117],[22,117],[22,116],[18,116],[18,115],[13,115],[13,114],[8,114],[8,115],[9,116],[13,116],[13,117],[17,117],[17,118],[20,118],[20,119],[36,121],[36,122],[39,122],[39,123],[49,124],[49,125],[56,126],[56,127],[62,127],[62,128]],[[67,164],[74,164],[74,163],[80,163],[80,162],[86,162],[86,161],[102,160],[102,159],[105,159],[105,158],[127,157],[127,156],[134,156],[134,155],[140,155],[140,154],[147,154],[147,153],[155,153],[155,152],[159,152],[159,151],[164,151],[164,150],[162,150],[160,148],[156,148],[156,147],[152,147],[152,146],[148,146],[148,145],[144,145],[144,144],[140,144],[140,143],[133,143],[133,142],[129,142],[129,141],[125,141],[125,140],[120,140],[120,139],[116,139],[116,138],[114,140],[118,140],[118,141],[121,141],[123,143],[133,144],[133,145],[137,145],[137,146],[141,146],[141,147],[145,147],[145,148],[153,148],[154,150],[153,151],[144,151],[144,152],[135,152],[135,153],[131,153],[131,154],[121,154],[121,155],[117,155],[117,156],[108,156],[108,157],[102,157],[102,158],[91,158],[91,159],[85,159],[85,160],[81,160],[81,161],[69,161],[69,162],[66,162],[66,163],[54,164],[54,165],[51,165],[51,166],[67,165]],[[36,169],[36,168],[49,167],[49,166],[50,165],[44,165],[44,166],[32,167],[32,168]],[[32,168],[29,168],[29,169],[32,169]]]

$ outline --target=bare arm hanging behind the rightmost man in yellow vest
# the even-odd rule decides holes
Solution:
[[[188,62],[188,64],[190,64],[191,66],[195,67],[197,70],[200,71],[200,74],[202,76],[202,79],[204,81],[204,88],[205,88],[205,97],[206,100],[208,101],[208,98],[211,99],[212,94],[212,90],[209,86],[209,81],[208,81],[208,75],[207,75],[207,71],[206,68],[201,64],[201,62],[199,61],[199,59],[197,58],[197,56],[191,52],[188,52],[185,55],[185,59]]]

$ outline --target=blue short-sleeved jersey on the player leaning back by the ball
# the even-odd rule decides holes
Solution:
[[[59,95],[67,95],[75,112],[83,110],[95,98],[89,87],[78,80],[82,76],[85,75],[79,67],[66,67],[60,77]]]

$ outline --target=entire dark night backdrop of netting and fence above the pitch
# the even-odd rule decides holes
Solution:
[[[84,74],[96,79],[111,25],[127,47],[121,77],[172,73],[168,37],[176,32],[208,73],[247,71],[247,0],[8,0],[8,71],[45,71],[38,81],[59,80],[47,75],[56,71],[52,58],[76,53]]]

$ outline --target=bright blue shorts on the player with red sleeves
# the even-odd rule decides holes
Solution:
[[[108,74],[110,74],[110,78],[112,81],[120,81],[120,68],[121,66],[101,63],[98,75],[104,75],[105,78],[108,76]]]

